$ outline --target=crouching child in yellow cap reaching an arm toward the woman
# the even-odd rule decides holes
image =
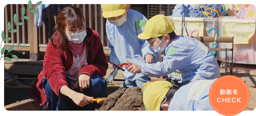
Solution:
[[[166,76],[174,86],[220,77],[219,65],[211,50],[202,42],[187,36],[178,36],[173,23],[164,15],[149,19],[139,39],[147,40],[157,53],[165,51],[162,62],[136,64],[128,68],[132,73],[146,76]]]

